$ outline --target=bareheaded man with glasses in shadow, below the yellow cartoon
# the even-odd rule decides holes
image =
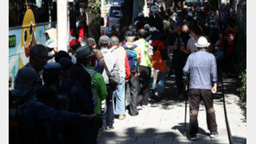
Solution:
[[[35,45],[31,47],[29,51],[29,63],[27,63],[23,67],[31,67],[35,69],[37,73],[37,78],[35,80],[35,86],[34,86],[34,91],[40,89],[42,87],[42,78],[40,77],[39,72],[42,71],[42,67],[47,64],[48,61],[48,49],[47,47],[44,47],[41,44]],[[22,68],[23,68],[22,67]],[[16,89],[16,81],[17,78],[15,78],[14,81],[14,88]]]

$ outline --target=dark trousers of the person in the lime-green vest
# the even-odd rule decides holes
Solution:
[[[140,91],[138,95],[139,105],[148,105],[150,97],[150,76],[151,68],[147,66],[139,66],[139,83]]]

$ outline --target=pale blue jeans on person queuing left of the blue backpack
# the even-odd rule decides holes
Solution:
[[[125,78],[120,77],[118,89],[115,92],[116,110],[115,115],[125,115]]]

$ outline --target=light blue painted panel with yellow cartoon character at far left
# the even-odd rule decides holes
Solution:
[[[31,9],[27,9],[22,27],[9,30],[9,81],[13,83],[16,72],[29,62],[29,50],[35,44],[44,44],[44,31],[56,28],[56,24],[35,24],[35,16]],[[11,85],[11,84],[10,84]],[[11,85],[12,87],[13,85]]]

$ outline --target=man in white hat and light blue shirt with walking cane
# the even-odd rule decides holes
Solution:
[[[201,99],[207,110],[210,137],[214,138],[218,135],[213,103],[213,94],[217,91],[217,65],[214,55],[206,52],[209,45],[210,43],[208,43],[205,37],[200,37],[197,43],[195,43],[199,51],[189,55],[183,68],[183,79],[190,79],[189,137],[193,141],[196,140],[196,134],[198,133],[197,115]]]

